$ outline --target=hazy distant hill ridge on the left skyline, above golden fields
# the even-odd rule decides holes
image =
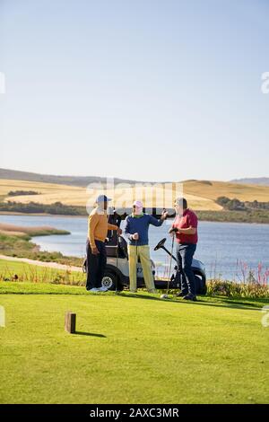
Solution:
[[[0,179],[39,181],[42,183],[56,183],[60,185],[78,186],[85,188],[90,183],[103,183],[107,178],[98,176],[54,176],[51,174],[39,174],[28,171],[0,169]],[[137,180],[114,179],[115,183],[134,184]]]

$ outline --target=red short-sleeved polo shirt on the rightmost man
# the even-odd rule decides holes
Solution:
[[[193,211],[187,208],[183,215],[176,216],[172,227],[177,227],[178,229],[187,229],[190,226],[197,229],[198,218]],[[178,243],[196,244],[198,242],[197,230],[195,234],[176,233],[176,241]]]

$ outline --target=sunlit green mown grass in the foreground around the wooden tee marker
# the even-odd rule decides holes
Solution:
[[[18,282],[1,282],[0,293],[1,403],[269,401],[265,301],[183,303]],[[65,311],[77,314],[74,335]]]

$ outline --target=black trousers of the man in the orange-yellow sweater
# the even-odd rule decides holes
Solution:
[[[104,242],[95,241],[96,247],[100,253],[93,255],[89,240],[87,241],[87,283],[86,289],[98,288],[101,286],[102,278],[105,274],[107,265],[107,251]]]

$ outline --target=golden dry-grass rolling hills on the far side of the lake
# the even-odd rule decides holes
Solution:
[[[21,172],[20,172],[21,173]],[[7,175],[8,173],[5,173]],[[11,173],[9,173],[11,174]],[[18,173],[13,173],[15,177]],[[56,178],[64,176],[48,176],[47,181],[25,180],[27,177],[35,173],[24,173],[24,179],[6,179],[0,177],[0,199],[2,201],[14,201],[27,204],[30,201],[38,202],[40,204],[53,204],[55,202],[62,202],[65,205],[86,207],[86,204],[92,205],[94,198],[103,189],[94,189],[87,191],[85,187],[74,186],[74,180],[70,176],[69,184],[48,182],[51,177]],[[1,175],[1,171],[0,171]],[[41,177],[41,175],[37,175]],[[74,178],[76,179],[76,178]],[[101,180],[101,178],[95,178]],[[63,180],[62,180],[63,181]],[[89,180],[88,180],[89,181]],[[120,180],[121,182],[123,180]],[[125,180],[126,182],[127,180]],[[75,181],[76,182],[76,181]],[[147,200],[148,207],[171,207],[173,189],[175,184],[158,183],[151,186],[143,186],[143,188],[135,188],[134,180],[131,180],[132,186],[128,189],[116,189],[107,191],[108,196],[116,199],[117,207],[130,207],[134,198],[141,198],[143,201]],[[142,183],[142,182],[140,182]],[[221,196],[228,198],[238,198],[242,201],[269,201],[269,186],[242,184],[213,180],[185,180],[183,184],[183,195],[187,198],[189,206],[195,210],[201,211],[219,211],[221,206],[216,204],[215,200]],[[16,190],[34,191],[36,195],[16,195],[9,196],[9,192]]]

